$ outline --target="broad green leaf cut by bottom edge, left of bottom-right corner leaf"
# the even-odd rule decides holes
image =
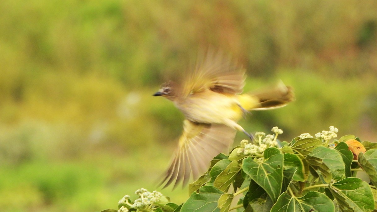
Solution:
[[[283,192],[274,206],[273,212],[331,212],[334,211],[334,203],[326,195],[310,191],[303,197],[292,197],[287,192]]]

